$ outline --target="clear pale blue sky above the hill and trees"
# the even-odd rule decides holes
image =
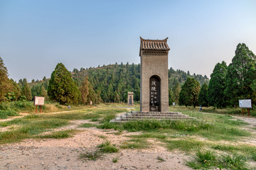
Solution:
[[[0,56],[9,78],[139,63],[139,36],[169,37],[169,67],[210,77],[239,42],[256,53],[256,1],[0,0]]]

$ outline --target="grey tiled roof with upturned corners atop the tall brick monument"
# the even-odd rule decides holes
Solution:
[[[146,51],[169,51],[170,48],[167,44],[167,39],[164,40],[146,40],[142,37],[141,39],[141,44],[140,44],[140,49],[139,49],[139,56],[142,54],[142,50]]]

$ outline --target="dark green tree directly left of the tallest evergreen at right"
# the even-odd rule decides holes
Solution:
[[[227,98],[224,91],[227,86],[227,64],[223,61],[215,65],[213,73],[210,74],[207,98],[210,106],[223,108],[227,106]]]

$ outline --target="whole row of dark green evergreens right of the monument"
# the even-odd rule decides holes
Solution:
[[[232,62],[215,64],[209,85],[188,78],[178,102],[185,106],[237,107],[239,99],[256,102],[256,56],[244,44],[238,44]],[[172,98],[171,98],[172,99]],[[174,99],[172,100],[174,101]]]

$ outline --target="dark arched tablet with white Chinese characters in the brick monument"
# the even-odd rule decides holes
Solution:
[[[149,111],[160,111],[159,102],[159,79],[157,77],[151,77],[149,79]]]

